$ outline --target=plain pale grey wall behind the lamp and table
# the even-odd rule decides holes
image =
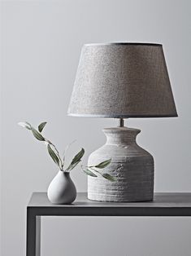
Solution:
[[[25,205],[57,172],[46,148],[17,126],[48,121],[46,136],[90,152],[115,120],[67,117],[80,48],[87,42],[161,42],[178,118],[137,119],[138,143],[155,159],[155,191],[191,192],[191,2],[4,1],[2,6],[2,256],[25,253]],[[71,154],[69,154],[71,156]],[[86,177],[72,171],[79,192]],[[189,256],[190,218],[45,218],[42,255]]]

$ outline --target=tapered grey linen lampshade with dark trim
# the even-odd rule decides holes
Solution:
[[[68,115],[177,117],[163,46],[128,42],[83,46]]]

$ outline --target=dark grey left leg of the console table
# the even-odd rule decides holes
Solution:
[[[41,255],[41,216],[27,210],[27,254],[26,256]]]

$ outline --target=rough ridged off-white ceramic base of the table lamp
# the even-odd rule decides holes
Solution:
[[[152,201],[154,195],[154,159],[136,143],[138,129],[103,129],[106,144],[89,156],[89,166],[111,158],[103,173],[117,178],[111,182],[88,176],[88,198],[93,201]]]

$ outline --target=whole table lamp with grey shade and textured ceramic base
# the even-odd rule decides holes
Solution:
[[[152,201],[154,159],[136,143],[141,130],[124,118],[177,117],[163,46],[155,43],[103,43],[83,46],[68,108],[75,117],[118,118],[103,129],[106,144],[89,156],[89,166],[111,158],[104,172],[115,182],[88,177],[93,201]]]

